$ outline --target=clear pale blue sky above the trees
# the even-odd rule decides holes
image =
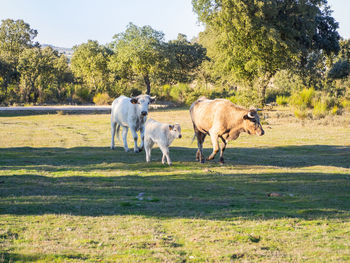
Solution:
[[[328,0],[339,22],[340,35],[350,38],[350,0]],[[0,0],[0,20],[23,19],[38,30],[35,41],[72,47],[89,39],[112,41],[129,22],[162,31],[165,40],[178,33],[188,39],[203,27],[192,11],[191,0]]]

